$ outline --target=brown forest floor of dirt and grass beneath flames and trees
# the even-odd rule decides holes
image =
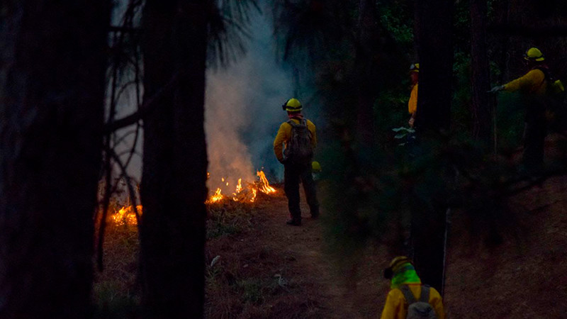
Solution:
[[[393,256],[371,245],[354,263],[328,252],[327,212],[286,225],[283,189],[252,206],[210,209],[206,245],[206,318],[378,318],[388,293],[383,269]],[[494,225],[500,244],[483,245],[490,225],[454,212],[444,305],[448,318],[567,318],[567,176],[551,177],[508,201]],[[510,227],[506,227],[510,226]],[[120,316],[139,300],[135,226],[109,230],[106,270],[97,273],[99,317]],[[354,266],[353,266],[354,265]],[[417,269],[419,272],[419,269]],[[120,300],[122,306],[116,305]]]

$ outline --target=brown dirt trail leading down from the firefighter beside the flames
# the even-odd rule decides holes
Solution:
[[[305,198],[301,198],[303,224],[286,225],[289,218],[283,191],[260,208],[263,215],[258,242],[281,257],[282,276],[292,289],[307,298],[301,318],[376,318],[387,291],[383,280],[369,272],[376,269],[376,256],[361,256],[365,267],[342,269],[336,257],[326,252],[323,228],[325,211],[318,219],[310,218]],[[300,307],[301,308],[301,307]]]

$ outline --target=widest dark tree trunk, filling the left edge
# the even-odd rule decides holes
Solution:
[[[88,318],[110,3],[0,6],[0,318]]]

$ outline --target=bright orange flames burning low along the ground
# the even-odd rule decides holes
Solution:
[[[220,203],[223,201],[237,201],[241,203],[254,203],[257,198],[258,191],[264,194],[274,194],[276,193],[276,189],[270,186],[268,179],[266,179],[266,175],[263,171],[257,171],[256,175],[258,177],[257,181],[253,182],[244,182],[244,186],[242,185],[242,179],[238,179],[238,183],[235,187],[235,191],[232,192],[230,195],[221,194],[220,188],[218,188],[214,194],[211,194],[207,200],[205,201],[206,204],[211,203]],[[210,175],[207,173],[207,177]],[[225,181],[223,177],[221,179],[223,184],[225,183],[229,186],[228,181]],[[137,213],[139,215],[142,214],[142,206],[136,206]],[[116,225],[137,225],[137,218],[134,206],[123,206],[120,208],[116,213],[111,214],[111,218],[113,223]]]

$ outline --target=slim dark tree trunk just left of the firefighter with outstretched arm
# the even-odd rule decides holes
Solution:
[[[471,0],[471,71],[473,137],[490,145],[490,96],[488,47],[486,45],[486,0]]]

